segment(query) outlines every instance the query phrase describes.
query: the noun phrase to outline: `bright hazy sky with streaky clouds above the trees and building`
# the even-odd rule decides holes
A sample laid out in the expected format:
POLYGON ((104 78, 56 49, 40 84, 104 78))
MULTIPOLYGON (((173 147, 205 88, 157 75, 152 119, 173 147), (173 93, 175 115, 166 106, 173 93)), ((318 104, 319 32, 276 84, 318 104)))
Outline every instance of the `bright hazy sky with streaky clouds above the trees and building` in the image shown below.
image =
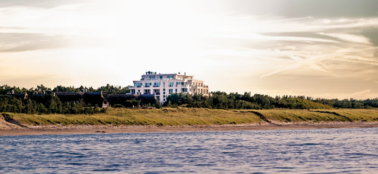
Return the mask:
POLYGON ((0 0, 0 86, 378 97, 378 0, 0 0))

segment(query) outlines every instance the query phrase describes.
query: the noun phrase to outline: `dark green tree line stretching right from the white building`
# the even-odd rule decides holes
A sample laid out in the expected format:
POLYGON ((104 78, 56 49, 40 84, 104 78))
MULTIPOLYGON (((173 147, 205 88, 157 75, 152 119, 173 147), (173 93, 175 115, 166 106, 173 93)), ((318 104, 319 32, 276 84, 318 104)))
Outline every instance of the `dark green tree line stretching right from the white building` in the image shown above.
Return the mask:
POLYGON ((167 97, 164 106, 177 107, 186 105, 186 107, 195 108, 213 108, 213 109, 332 109, 332 108, 353 108, 369 109, 378 108, 378 98, 366 100, 354 99, 313 99, 305 96, 276 96, 275 98, 268 95, 254 94, 245 92, 244 94, 217 91, 211 92, 211 97, 200 94, 173 93, 167 97))

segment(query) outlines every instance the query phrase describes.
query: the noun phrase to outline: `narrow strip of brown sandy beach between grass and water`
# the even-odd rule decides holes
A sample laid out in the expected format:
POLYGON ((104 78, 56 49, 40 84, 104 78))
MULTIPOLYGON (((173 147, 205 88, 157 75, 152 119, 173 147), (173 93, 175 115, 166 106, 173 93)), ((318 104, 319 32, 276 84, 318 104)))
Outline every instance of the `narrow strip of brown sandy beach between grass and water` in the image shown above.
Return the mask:
POLYGON ((180 126, 31 126, 27 128, 2 129, 1 135, 37 135, 37 134, 82 134, 82 133, 147 133, 147 132, 182 132, 182 131, 250 131, 250 130, 286 130, 286 129, 334 129, 334 128, 378 128, 378 122, 296 122, 268 123, 265 121, 243 124, 223 125, 180 125, 180 126))

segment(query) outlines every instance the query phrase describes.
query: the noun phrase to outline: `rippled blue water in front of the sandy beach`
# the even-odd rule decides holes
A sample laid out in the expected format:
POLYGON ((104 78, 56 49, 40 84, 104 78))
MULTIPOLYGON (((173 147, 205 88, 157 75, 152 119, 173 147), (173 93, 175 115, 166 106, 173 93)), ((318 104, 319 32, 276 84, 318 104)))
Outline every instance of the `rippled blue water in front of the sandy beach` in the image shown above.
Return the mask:
POLYGON ((0 136, 0 173, 377 173, 378 129, 0 136))

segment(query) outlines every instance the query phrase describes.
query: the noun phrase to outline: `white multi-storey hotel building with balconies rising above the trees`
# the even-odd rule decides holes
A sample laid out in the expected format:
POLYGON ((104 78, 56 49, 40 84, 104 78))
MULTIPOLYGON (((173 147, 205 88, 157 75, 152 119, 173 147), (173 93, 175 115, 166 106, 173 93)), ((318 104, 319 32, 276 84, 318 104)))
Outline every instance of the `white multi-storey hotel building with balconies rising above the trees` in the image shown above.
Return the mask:
POLYGON ((146 72, 141 80, 133 81, 134 86, 129 87, 131 94, 155 94, 160 103, 166 101, 172 93, 195 93, 209 96, 209 87, 202 80, 194 79, 194 75, 186 73, 157 74, 146 72))

